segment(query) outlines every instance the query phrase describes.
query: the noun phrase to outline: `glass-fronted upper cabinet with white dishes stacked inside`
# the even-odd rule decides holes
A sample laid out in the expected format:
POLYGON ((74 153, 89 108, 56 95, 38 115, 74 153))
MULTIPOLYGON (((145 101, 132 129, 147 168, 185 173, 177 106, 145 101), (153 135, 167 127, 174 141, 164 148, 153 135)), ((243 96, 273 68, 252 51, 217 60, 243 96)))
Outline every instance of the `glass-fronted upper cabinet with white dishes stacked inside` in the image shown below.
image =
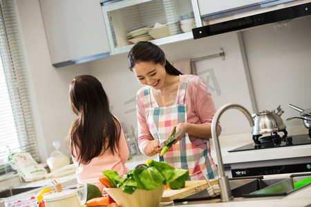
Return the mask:
POLYGON ((138 41, 157 45, 193 39, 202 26, 196 0, 102 1, 111 55, 127 52, 138 41))

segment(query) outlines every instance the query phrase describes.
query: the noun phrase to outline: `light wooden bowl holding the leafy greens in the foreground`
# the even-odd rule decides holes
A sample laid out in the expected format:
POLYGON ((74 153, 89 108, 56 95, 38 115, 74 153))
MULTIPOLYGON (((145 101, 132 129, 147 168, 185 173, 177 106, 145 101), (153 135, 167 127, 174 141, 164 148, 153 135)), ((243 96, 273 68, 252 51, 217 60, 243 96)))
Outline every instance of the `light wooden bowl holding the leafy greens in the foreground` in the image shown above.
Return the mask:
POLYGON ((131 195, 123 193, 120 188, 104 188, 104 190, 122 207, 156 207, 160 205, 164 188, 162 184, 155 190, 136 189, 131 195))

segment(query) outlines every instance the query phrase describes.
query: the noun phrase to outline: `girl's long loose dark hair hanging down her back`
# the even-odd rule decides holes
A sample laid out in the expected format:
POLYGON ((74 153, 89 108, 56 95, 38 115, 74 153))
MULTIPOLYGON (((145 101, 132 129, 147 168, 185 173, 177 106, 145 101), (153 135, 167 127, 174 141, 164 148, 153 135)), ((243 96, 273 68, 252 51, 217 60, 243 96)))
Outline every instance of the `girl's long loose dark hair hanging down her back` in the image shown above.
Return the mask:
POLYGON ((77 115, 67 137, 71 155, 76 155, 79 164, 88 164, 106 150, 114 154, 121 125, 109 110, 102 83, 91 75, 79 75, 70 83, 69 97, 77 115))

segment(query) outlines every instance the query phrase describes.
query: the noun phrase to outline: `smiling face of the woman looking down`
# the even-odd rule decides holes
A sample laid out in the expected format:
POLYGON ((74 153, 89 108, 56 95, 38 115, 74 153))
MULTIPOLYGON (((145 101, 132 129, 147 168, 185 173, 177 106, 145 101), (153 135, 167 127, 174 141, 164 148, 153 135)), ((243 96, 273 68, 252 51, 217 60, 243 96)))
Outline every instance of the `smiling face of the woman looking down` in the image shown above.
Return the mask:
POLYGON ((164 86, 167 75, 164 66, 160 63, 155 64, 153 61, 140 62, 133 67, 133 72, 143 85, 160 89, 164 86))

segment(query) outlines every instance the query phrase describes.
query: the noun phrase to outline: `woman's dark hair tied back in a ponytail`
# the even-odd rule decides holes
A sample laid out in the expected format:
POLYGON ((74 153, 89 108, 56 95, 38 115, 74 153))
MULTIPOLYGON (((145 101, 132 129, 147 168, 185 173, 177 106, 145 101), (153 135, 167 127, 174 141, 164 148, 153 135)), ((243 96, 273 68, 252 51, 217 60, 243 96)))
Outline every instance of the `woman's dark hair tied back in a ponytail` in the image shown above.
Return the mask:
POLYGON ((165 61, 165 70, 169 75, 182 75, 182 73, 174 68, 174 66, 167 61, 163 50, 149 41, 140 41, 131 48, 129 55, 127 56, 129 61, 129 69, 133 71, 133 67, 140 62, 153 61, 153 63, 161 65, 165 61))

